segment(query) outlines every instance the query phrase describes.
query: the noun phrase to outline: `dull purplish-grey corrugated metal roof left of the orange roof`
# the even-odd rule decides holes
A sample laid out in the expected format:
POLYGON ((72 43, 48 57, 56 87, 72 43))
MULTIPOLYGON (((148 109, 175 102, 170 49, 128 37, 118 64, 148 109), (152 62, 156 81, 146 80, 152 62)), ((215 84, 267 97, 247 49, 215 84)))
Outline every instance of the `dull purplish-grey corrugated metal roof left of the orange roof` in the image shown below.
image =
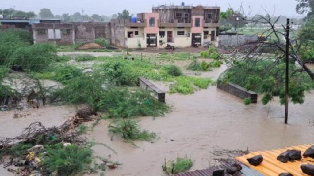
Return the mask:
MULTIPOLYGON (((242 166, 242 170, 239 174, 237 174, 237 176, 241 176, 241 175, 249 175, 249 176, 263 176, 263 174, 257 172, 254 169, 251 169, 245 165, 241 165, 242 166)), ((231 167, 231 164, 221 164, 219 166, 213 166, 207 169, 203 169, 203 170, 195 170, 192 172, 185 172, 185 173, 178 173, 175 176, 212 176, 213 172, 215 170, 219 170, 219 169, 226 169, 231 167)), ((226 173, 226 176, 231 176, 230 174, 226 173)))

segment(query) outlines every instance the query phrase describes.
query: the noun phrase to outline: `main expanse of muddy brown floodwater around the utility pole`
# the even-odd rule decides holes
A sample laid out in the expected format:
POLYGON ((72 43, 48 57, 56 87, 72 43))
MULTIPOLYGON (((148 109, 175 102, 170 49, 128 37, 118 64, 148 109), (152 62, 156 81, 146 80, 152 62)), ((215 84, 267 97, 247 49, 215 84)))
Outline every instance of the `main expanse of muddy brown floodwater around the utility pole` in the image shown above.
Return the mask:
MULTIPOLYGON (((210 77, 217 78, 224 68, 215 70, 210 77)), ((208 72, 210 74, 210 72, 208 72)), ((166 86, 159 85, 162 89, 166 86)), ((154 142, 123 142, 120 137, 108 134, 109 121, 102 122, 90 132, 89 138, 105 143, 116 153, 103 146, 95 146, 95 154, 110 156, 122 163, 107 176, 163 175, 164 159, 187 155, 195 162, 191 170, 203 169, 215 163, 210 152, 214 146, 225 149, 267 150, 297 144, 313 143, 314 94, 308 93, 303 105, 290 104, 289 125, 284 125, 284 106, 273 100, 263 106, 244 106, 233 95, 210 86, 192 95, 166 95, 172 111, 156 119, 141 117, 143 129, 156 132, 154 142)))

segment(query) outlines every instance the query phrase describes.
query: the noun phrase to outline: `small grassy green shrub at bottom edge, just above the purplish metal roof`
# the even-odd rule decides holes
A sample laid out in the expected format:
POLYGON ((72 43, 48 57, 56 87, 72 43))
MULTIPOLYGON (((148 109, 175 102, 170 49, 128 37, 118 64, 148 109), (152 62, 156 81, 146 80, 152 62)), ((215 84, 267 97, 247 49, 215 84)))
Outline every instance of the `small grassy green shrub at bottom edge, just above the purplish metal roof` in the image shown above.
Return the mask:
POLYGON ((185 172, 187 170, 189 170, 190 168, 192 168, 193 166, 193 161, 190 158, 176 158, 176 161, 168 161, 168 163, 165 163, 162 165, 162 169, 165 173, 167 173, 168 175, 170 174, 177 174, 177 173, 181 173, 181 172, 185 172))

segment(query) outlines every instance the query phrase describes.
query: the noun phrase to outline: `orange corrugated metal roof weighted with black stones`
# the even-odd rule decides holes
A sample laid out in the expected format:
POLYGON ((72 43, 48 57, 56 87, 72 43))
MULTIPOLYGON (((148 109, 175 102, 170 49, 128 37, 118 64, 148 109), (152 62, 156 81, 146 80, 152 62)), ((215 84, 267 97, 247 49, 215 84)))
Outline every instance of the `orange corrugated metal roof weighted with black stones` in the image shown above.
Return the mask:
MULTIPOLYGON (((313 144, 311 144, 313 145, 313 144)), ((269 150, 269 151, 258 151, 252 152, 245 156, 236 158, 241 163, 247 165, 250 168, 257 170, 260 173, 269 176, 278 176, 280 173, 291 173, 292 175, 304 175, 307 174, 302 173, 300 166, 302 164, 314 164, 314 159, 312 158, 302 158, 301 160, 294 162, 288 161, 287 163, 282 163, 277 160, 277 156, 280 153, 286 152, 287 150, 300 150, 303 154, 307 148, 311 147, 311 145, 299 145, 288 148, 279 148, 277 150, 269 150), (247 158, 254 157, 256 155, 262 155, 264 160, 259 166, 252 166, 246 160, 247 158)))

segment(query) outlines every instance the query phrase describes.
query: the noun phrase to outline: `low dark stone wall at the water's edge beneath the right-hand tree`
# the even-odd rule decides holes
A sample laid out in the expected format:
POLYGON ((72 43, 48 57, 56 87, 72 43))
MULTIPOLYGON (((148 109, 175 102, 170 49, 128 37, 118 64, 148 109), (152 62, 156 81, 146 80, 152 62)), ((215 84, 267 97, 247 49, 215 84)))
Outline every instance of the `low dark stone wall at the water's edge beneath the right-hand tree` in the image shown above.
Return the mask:
POLYGON ((224 84, 221 80, 218 80, 217 88, 229 92, 230 94, 242 99, 251 98, 252 103, 257 103, 257 93, 253 91, 247 91, 245 88, 239 85, 232 84, 230 82, 224 84))

